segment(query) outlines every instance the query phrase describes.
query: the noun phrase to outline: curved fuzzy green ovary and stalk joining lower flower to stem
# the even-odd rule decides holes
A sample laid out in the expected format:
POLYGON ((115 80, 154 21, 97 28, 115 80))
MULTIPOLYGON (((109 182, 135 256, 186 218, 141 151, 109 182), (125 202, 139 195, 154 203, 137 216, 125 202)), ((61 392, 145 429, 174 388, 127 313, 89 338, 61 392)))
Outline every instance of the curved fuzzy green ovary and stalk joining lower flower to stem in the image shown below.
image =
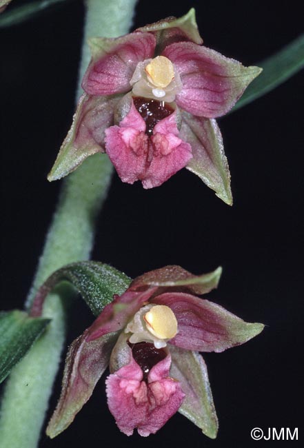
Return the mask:
POLYGON ((125 292, 131 278, 114 267, 98 261, 81 261, 61 267, 37 292, 31 309, 32 316, 40 316, 45 297, 60 281, 72 283, 92 313, 98 316, 103 307, 112 302, 114 294, 120 296, 125 292))

